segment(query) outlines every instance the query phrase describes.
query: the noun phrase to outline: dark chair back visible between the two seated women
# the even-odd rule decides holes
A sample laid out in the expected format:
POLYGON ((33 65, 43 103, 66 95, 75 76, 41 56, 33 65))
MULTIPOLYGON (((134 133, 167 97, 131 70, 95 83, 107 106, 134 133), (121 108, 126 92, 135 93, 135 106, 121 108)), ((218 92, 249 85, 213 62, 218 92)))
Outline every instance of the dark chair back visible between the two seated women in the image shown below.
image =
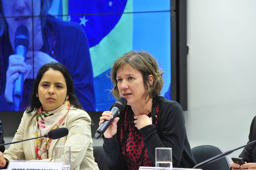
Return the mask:
POLYGON ((100 170, 108 170, 104 161, 103 146, 93 146, 93 156, 100 170))

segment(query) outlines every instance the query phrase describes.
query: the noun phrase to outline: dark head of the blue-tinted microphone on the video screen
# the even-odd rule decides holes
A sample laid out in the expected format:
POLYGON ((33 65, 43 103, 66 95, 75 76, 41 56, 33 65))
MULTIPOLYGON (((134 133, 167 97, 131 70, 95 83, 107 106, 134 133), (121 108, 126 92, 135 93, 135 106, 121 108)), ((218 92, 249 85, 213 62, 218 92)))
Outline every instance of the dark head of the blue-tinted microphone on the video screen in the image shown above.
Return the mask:
POLYGON ((28 48, 29 45, 29 33, 27 27, 20 25, 15 32, 14 47, 22 45, 28 48))

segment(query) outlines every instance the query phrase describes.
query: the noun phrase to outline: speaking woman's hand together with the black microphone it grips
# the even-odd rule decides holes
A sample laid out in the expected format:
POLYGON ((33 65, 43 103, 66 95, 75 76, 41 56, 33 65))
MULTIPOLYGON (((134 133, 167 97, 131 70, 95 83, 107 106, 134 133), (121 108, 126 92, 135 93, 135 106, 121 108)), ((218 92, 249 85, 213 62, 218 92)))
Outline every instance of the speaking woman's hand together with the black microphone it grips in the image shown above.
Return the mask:
POLYGON ((104 111, 100 117, 99 128, 96 130, 95 138, 98 139, 104 132, 104 137, 111 138, 117 132, 117 121, 121 111, 125 108, 127 100, 124 97, 120 97, 111 108, 110 111, 104 111), (111 114, 112 113, 112 114, 111 114))

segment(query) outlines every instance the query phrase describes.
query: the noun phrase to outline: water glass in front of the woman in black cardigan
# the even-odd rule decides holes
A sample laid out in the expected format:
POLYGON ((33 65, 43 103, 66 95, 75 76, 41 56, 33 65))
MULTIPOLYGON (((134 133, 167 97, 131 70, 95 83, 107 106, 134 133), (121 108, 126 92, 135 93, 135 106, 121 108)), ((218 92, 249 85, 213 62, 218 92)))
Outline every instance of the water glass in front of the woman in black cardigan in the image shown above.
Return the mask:
POLYGON ((172 168, 172 148, 156 148, 156 167, 172 168))

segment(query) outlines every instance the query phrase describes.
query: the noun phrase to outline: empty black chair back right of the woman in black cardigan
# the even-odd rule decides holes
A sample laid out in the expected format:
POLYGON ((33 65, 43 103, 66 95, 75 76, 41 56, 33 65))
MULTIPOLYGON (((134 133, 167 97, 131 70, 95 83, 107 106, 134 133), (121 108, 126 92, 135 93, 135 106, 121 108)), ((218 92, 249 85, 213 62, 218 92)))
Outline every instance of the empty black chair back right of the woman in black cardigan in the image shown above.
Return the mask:
MULTIPOLYGON (((202 145, 196 146, 191 149, 192 154, 196 160, 196 163, 199 164, 207 159, 210 159, 216 155, 223 153, 223 151, 212 145, 202 145)), ((210 163, 209 165, 203 166, 203 170, 230 170, 230 162, 227 156, 210 163)))

